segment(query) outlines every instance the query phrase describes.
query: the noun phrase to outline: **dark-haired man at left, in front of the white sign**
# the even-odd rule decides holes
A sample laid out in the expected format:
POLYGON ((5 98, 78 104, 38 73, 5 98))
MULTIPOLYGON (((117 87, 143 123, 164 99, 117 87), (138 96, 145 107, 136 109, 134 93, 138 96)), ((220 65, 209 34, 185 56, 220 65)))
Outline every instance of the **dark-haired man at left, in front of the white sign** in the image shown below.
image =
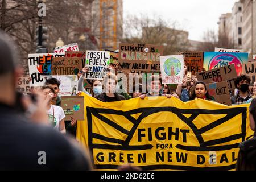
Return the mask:
POLYGON ((44 85, 50 86, 54 90, 54 97, 52 99, 52 104, 56 106, 61 106, 61 98, 58 96, 58 93, 60 92, 60 81, 56 78, 49 78, 46 80, 44 85))

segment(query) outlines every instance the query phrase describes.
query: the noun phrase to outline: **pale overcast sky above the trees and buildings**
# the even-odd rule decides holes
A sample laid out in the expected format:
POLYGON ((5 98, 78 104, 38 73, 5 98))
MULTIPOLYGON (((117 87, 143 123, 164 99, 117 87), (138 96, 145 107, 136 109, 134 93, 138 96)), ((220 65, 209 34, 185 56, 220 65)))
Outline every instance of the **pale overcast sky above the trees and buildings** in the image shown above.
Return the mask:
POLYGON ((189 39, 202 40, 208 29, 218 31, 218 18, 231 13, 238 0, 123 0, 123 18, 127 14, 158 14, 176 21, 189 32, 189 39))

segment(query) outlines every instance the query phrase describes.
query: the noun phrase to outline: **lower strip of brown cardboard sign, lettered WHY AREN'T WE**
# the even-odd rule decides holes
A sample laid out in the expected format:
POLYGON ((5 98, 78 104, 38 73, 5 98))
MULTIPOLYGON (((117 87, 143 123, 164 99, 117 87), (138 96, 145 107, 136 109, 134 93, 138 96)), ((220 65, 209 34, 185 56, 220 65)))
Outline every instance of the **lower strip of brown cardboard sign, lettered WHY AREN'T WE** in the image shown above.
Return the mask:
POLYGON ((146 72, 159 72, 160 62, 152 61, 152 64, 147 64, 147 61, 119 61, 122 71, 126 73, 146 73, 146 72))

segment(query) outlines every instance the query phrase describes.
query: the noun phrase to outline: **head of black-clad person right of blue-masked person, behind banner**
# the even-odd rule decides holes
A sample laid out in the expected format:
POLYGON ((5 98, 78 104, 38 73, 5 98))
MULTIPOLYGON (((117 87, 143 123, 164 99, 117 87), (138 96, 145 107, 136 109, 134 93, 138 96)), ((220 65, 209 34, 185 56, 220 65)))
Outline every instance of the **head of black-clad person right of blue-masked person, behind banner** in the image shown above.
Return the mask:
POLYGON ((117 76, 114 73, 107 73, 103 78, 104 92, 115 93, 115 86, 117 85, 117 76))

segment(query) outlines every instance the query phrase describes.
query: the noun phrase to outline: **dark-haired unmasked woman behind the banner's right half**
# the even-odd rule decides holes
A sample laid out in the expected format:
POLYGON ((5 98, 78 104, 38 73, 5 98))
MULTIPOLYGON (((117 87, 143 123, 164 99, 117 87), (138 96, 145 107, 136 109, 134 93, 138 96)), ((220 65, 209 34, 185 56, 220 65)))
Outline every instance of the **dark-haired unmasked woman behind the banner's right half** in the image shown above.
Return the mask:
POLYGON ((206 85, 203 81, 198 81, 195 84, 195 90, 192 93, 189 100, 195 100, 195 98, 201 98, 208 101, 214 101, 214 98, 207 92, 206 85))

